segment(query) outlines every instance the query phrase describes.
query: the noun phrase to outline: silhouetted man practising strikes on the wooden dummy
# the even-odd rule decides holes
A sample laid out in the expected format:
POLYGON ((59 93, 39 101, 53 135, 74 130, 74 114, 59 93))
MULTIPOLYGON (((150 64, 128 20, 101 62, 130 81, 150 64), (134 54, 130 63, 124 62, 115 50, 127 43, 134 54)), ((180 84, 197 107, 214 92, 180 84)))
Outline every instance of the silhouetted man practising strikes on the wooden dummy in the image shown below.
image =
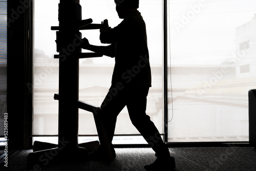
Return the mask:
MULTIPOLYGON (((144 139, 152 146, 157 160, 144 166, 146 170, 170 170, 175 168, 175 159, 155 124, 146 115, 146 97, 151 87, 151 68, 147 49, 147 36, 144 20, 137 10, 139 0, 115 0, 116 11, 122 22, 110 28, 108 20, 102 22, 100 41, 109 46, 93 46, 83 38, 82 48, 115 57, 115 68, 111 88, 103 100, 97 116, 104 122, 111 145, 113 158, 116 157, 112 139, 118 114, 126 105, 130 119, 144 139)), ((92 154, 95 159, 106 157, 100 146, 92 154)))

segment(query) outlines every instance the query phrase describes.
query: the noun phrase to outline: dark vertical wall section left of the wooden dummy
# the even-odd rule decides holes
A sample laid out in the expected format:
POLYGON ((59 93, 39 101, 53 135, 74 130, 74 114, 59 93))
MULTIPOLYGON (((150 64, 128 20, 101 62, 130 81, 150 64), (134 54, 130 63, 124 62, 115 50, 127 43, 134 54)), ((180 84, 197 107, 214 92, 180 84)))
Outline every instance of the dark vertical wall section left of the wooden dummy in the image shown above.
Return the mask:
POLYGON ((8 148, 31 147, 33 7, 31 0, 8 1, 8 148))

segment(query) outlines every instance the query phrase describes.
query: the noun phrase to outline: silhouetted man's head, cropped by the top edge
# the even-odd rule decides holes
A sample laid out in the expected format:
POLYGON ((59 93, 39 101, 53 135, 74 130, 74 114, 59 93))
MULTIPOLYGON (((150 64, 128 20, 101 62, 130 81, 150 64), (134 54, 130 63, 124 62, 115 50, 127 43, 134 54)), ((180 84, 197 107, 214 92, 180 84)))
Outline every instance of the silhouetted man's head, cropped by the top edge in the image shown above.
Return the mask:
POLYGON ((124 18, 139 8, 139 0, 115 0, 119 18, 124 18))

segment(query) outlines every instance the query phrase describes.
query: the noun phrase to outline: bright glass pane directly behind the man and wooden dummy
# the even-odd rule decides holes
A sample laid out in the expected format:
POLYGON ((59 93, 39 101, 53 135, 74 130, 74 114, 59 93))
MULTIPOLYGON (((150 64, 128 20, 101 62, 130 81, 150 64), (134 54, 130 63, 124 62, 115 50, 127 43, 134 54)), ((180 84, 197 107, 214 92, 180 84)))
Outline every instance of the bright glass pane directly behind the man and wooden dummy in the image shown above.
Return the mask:
MULTIPOLYGON (((58 134, 58 101, 53 99, 58 93, 58 60, 56 53, 56 31, 51 26, 58 26, 59 1, 35 1, 34 19, 34 122, 33 135, 58 134), (47 10, 47 13, 45 12, 47 10)), ((100 24, 108 19, 109 25, 117 26, 121 19, 115 11, 113 0, 80 1, 82 18, 92 18, 93 23, 100 24)), ((162 102, 162 0, 140 1, 141 12, 147 27, 148 49, 152 67, 153 83, 148 95, 147 114, 151 116, 163 133, 162 102)), ((82 30, 91 44, 102 45, 99 30, 82 30)), ((104 45, 103 45, 104 46, 104 45)), ((83 50, 83 52, 87 52, 83 50)), ((79 100, 99 106, 111 86, 114 59, 100 58, 80 59, 79 100)), ((116 125, 116 134, 139 134, 132 125, 126 108, 120 113, 116 125)), ((79 110, 79 135, 96 135, 96 127, 91 113, 79 110)), ((130 142, 129 142, 130 143, 130 142)))

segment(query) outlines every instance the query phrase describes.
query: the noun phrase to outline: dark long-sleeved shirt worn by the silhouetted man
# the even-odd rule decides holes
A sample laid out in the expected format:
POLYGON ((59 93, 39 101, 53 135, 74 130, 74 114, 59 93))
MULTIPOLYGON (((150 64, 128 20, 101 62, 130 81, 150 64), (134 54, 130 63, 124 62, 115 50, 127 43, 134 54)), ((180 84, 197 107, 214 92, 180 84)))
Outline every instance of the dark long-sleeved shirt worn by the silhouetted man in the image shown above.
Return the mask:
POLYGON ((146 26, 139 11, 126 16, 115 28, 101 32, 100 41, 111 44, 105 55, 115 57, 112 87, 117 83, 151 87, 146 26))

